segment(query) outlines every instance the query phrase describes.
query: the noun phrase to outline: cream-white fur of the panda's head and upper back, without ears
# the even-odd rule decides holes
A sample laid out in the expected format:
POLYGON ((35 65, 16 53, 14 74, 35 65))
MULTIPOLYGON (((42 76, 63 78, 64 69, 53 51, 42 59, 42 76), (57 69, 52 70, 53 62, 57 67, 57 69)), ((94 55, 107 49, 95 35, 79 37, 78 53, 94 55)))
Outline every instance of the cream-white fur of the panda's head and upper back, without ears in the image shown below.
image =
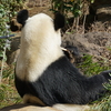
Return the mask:
POLYGON ((39 13, 29 18, 21 32, 17 75, 30 82, 38 80, 48 65, 63 56, 60 44, 60 30, 54 30, 49 16, 39 13))

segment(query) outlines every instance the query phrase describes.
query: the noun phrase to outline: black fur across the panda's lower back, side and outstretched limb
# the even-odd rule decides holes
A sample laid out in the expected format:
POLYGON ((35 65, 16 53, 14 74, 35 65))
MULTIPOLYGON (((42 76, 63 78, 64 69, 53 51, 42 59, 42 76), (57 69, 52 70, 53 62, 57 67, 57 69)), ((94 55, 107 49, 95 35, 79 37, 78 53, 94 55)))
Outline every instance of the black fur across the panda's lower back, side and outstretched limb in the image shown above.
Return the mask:
POLYGON ((20 95, 31 93, 48 105, 56 103, 85 104, 99 99, 99 93, 104 92, 102 83, 111 79, 108 75, 110 72, 105 72, 105 77, 102 72, 102 74, 87 78, 65 57, 62 57, 50 64, 37 81, 21 82, 17 78, 16 84, 18 84, 20 95))

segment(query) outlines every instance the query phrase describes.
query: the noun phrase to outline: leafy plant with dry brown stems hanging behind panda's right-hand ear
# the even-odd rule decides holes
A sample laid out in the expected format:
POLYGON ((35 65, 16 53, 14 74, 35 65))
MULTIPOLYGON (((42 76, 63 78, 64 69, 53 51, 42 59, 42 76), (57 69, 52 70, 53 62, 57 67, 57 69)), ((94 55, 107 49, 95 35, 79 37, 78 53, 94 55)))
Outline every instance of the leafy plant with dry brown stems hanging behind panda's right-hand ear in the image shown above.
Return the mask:
MULTIPOLYGON (((72 30, 75 28, 75 32, 78 32, 78 26, 80 19, 82 19, 82 30, 84 32, 84 23, 87 14, 89 13, 89 6, 93 3, 94 0, 51 0, 51 10, 53 12, 60 11, 67 17, 67 19, 73 18, 72 30)), ((67 21, 67 23, 69 24, 69 21, 67 21)))

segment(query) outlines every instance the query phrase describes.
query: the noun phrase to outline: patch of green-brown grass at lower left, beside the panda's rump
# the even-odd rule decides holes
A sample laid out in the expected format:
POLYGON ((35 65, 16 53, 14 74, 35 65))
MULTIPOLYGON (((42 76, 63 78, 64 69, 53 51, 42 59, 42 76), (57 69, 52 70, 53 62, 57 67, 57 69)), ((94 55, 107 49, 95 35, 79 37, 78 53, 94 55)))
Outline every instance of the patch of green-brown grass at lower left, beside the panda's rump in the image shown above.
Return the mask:
POLYGON ((0 84, 0 108, 21 102, 21 98, 14 88, 13 78, 13 68, 7 67, 3 70, 2 82, 0 84))

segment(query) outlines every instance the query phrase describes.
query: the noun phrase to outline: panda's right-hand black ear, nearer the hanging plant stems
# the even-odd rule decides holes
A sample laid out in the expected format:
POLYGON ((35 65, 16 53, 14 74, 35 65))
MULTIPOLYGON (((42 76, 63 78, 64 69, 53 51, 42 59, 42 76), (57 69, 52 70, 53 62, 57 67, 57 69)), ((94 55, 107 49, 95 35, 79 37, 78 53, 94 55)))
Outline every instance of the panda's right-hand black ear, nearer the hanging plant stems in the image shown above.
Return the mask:
POLYGON ((63 28, 64 27, 64 24, 65 24, 65 19, 64 19, 64 16, 63 14, 61 14, 61 13, 59 13, 59 12, 57 12, 56 14, 54 14, 54 29, 56 29, 56 31, 58 30, 58 29, 60 29, 60 28, 63 28))

